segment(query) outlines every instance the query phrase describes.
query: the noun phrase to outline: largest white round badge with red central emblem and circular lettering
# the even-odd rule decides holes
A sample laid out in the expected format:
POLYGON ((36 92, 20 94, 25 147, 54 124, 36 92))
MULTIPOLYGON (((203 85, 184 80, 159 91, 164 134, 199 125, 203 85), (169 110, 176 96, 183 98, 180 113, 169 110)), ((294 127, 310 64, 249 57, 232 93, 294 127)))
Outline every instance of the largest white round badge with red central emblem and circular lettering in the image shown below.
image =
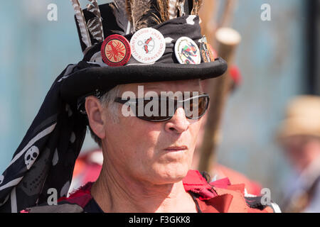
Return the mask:
POLYGON ((154 28, 142 28, 134 33, 130 45, 134 59, 145 64, 156 62, 166 50, 164 35, 154 28))

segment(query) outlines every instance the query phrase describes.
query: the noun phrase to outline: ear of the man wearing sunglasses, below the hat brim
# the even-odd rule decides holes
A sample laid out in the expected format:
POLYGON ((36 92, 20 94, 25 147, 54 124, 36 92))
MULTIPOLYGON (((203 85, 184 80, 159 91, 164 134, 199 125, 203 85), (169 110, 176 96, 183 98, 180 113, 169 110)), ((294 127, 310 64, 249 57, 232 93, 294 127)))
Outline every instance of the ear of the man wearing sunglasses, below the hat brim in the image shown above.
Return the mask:
POLYGON ((92 131, 100 139, 105 138, 105 121, 103 119, 103 108, 95 96, 87 96, 85 99, 85 111, 92 131))

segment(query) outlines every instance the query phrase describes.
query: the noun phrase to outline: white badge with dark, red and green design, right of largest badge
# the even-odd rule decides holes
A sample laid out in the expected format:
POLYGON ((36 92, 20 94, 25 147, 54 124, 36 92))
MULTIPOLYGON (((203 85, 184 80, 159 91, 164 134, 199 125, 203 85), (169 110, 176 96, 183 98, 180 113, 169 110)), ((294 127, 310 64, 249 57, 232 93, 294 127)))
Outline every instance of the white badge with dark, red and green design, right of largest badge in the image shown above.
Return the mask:
POLYGON ((198 45, 191 38, 178 38, 174 45, 174 52, 180 64, 200 64, 201 62, 198 45))

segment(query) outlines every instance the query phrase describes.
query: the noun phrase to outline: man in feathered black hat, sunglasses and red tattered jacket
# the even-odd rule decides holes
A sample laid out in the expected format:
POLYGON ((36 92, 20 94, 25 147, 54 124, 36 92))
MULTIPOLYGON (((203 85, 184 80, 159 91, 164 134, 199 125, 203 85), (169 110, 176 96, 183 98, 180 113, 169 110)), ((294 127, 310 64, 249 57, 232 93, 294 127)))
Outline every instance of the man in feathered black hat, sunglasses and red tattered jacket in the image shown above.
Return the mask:
POLYGON ((184 64, 181 47, 201 42, 201 1, 162 4, 92 1, 83 16, 73 0, 85 56, 55 80, 2 175, 1 211, 272 211, 241 185, 189 170, 209 101, 200 79, 227 66, 201 62, 198 50, 197 64, 184 64), (102 172, 67 198, 86 126, 102 147, 102 172))

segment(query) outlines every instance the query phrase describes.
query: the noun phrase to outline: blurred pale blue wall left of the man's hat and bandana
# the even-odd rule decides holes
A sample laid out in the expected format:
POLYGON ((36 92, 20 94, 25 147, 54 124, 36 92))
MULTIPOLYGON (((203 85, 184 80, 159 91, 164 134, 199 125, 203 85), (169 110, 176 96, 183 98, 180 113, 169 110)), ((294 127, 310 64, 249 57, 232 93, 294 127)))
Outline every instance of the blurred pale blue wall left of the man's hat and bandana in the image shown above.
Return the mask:
POLYGON ((73 15, 70 1, 1 2, 1 172, 9 164, 55 77, 68 64, 81 60, 73 15), (58 6, 58 21, 47 19, 50 3, 58 6))

